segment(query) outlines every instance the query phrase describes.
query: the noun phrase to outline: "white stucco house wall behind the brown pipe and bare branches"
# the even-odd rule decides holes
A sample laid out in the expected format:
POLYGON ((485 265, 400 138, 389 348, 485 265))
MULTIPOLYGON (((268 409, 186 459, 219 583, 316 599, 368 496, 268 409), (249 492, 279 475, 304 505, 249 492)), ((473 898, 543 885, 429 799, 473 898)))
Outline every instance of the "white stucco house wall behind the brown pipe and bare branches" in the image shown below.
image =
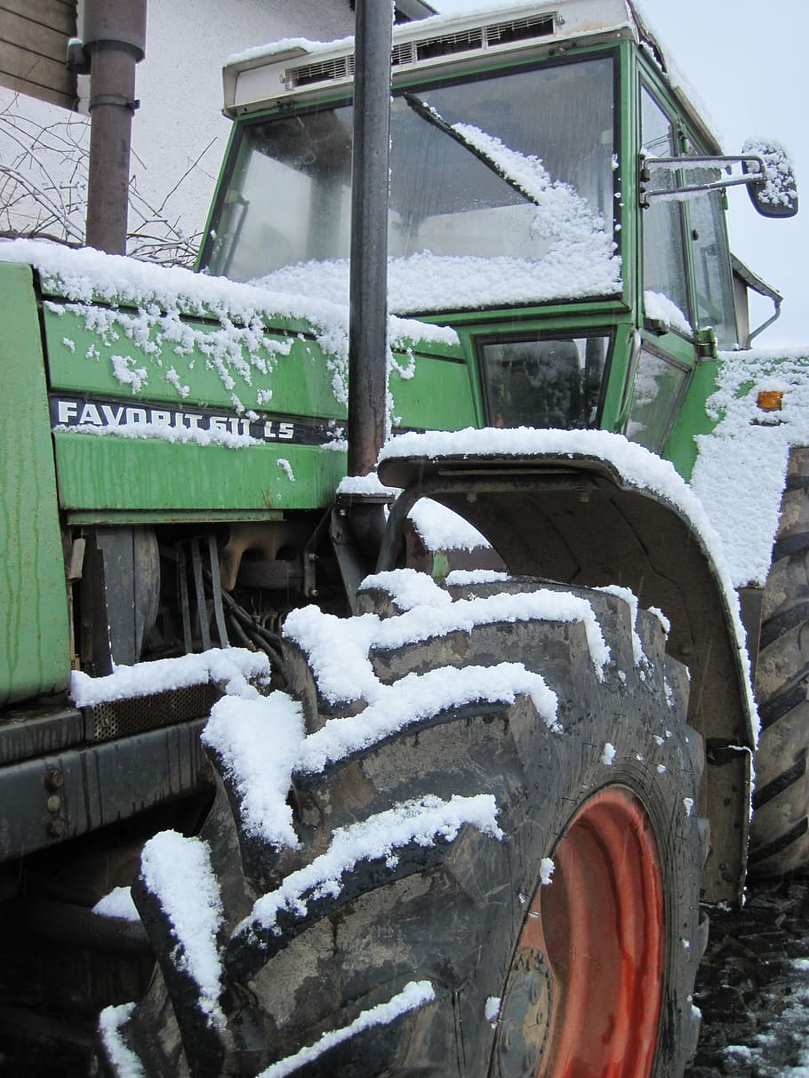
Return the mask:
MULTIPOLYGON (((149 0, 146 58, 137 68, 140 108, 133 124, 132 175, 137 192, 157 208, 179 183, 163 216, 178 222, 186 235, 198 232, 205 224, 230 133, 230 122, 221 114, 223 61, 233 53, 286 37, 329 41, 353 29, 348 0, 149 0), (203 151, 201 163, 186 176, 203 151)), ((80 83, 86 98, 88 80, 80 83)), ((81 201, 74 160, 65 155, 65 148, 81 142, 87 121, 33 98, 20 96, 14 101, 14 97, 0 87, 0 163, 16 163, 20 152, 17 136, 23 140, 36 136, 36 127, 27 126, 29 121, 50 127, 52 135, 46 141, 54 149, 38 144, 37 164, 23 163, 22 170, 28 168, 35 182, 47 186, 55 202, 81 201), (14 119, 3 123, 10 109, 14 119), (69 125, 67 138, 65 125, 69 125), (43 168, 47 171, 44 179, 43 168)), ((80 154, 78 150, 72 156, 80 154)), ((11 190, 2 181, 0 175, 0 199, 11 190)), ((134 218, 131 212, 131 230, 134 218)), ((83 207, 73 209, 71 223, 70 238, 80 239, 83 207)), ((0 221, 0 227, 5 226, 6 221, 0 221)), ((26 227, 27 222, 20 217, 14 226, 26 227)), ((53 223, 46 231, 59 232, 53 223)))

